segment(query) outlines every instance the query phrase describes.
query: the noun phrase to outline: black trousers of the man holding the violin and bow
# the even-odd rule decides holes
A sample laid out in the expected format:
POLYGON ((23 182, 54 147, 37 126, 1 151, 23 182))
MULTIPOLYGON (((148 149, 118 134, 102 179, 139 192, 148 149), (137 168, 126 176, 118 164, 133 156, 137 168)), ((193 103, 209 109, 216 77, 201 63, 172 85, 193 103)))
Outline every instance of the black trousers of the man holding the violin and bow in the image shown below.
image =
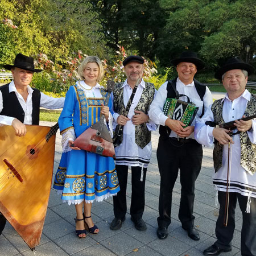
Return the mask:
POLYGON ((242 256, 256 255, 256 198, 251 197, 250 213, 246 213, 247 196, 240 193, 229 193, 228 225, 224 226, 226 192, 218 191, 218 202, 220 203, 219 216, 216 222, 215 244, 221 249, 229 249, 235 229, 235 209, 237 200, 242 211, 243 223, 241 230, 241 254, 242 256))

